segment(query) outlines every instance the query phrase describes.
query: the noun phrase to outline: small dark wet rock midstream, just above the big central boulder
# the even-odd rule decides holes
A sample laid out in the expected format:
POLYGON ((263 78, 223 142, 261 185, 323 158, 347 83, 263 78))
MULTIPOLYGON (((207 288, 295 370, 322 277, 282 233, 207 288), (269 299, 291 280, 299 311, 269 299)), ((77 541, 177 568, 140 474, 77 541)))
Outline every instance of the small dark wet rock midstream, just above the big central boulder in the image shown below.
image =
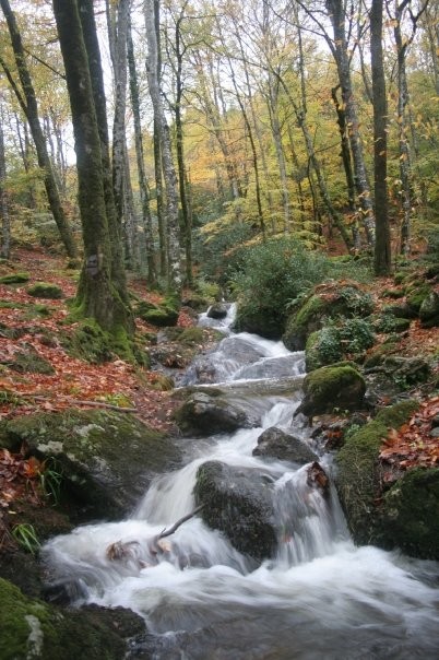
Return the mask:
POLYGON ((253 449, 253 456, 278 458, 304 465, 318 460, 317 455, 294 435, 285 433, 276 426, 264 431, 258 438, 258 447, 253 449))

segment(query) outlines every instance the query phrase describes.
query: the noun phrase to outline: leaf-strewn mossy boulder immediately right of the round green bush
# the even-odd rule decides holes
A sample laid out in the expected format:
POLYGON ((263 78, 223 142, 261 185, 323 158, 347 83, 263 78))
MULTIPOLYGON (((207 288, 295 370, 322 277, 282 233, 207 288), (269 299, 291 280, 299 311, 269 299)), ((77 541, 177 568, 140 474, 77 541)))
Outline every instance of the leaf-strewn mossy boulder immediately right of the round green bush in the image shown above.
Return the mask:
POLYGON ((370 315, 372 309, 371 296, 355 283, 348 286, 320 285, 301 307, 289 316, 283 334, 284 344, 289 351, 301 351, 307 338, 311 332, 323 328, 327 319, 365 317, 370 315))

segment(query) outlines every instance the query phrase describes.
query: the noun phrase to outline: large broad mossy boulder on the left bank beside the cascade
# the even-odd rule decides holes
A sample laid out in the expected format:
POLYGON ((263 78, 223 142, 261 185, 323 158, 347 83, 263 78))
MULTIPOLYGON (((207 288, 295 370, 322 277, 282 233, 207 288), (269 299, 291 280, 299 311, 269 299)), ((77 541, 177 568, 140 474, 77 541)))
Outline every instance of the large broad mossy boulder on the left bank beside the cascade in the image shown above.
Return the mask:
POLYGON ((52 459, 62 475, 60 498, 78 520, 119 518, 153 476, 180 464, 176 444, 129 413, 67 410, 3 422, 0 444, 52 459))

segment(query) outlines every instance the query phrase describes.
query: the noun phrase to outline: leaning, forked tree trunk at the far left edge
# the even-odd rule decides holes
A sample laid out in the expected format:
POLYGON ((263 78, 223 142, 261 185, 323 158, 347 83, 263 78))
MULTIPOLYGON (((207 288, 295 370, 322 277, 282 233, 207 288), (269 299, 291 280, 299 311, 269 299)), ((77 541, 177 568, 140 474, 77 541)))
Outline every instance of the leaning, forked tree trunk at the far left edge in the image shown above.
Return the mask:
POLYGON ((0 5, 3 10, 3 14, 8 23, 8 30, 11 37, 12 49, 14 51, 14 58, 19 71, 23 95, 20 92, 17 85, 14 83, 9 69, 4 67, 3 62, 2 66, 10 84, 12 85, 14 93, 17 96, 22 110, 28 121, 32 137, 35 143, 35 149, 37 152, 38 165, 44 174, 44 184, 46 188, 47 199, 49 201, 54 220, 60 233, 61 240, 63 243, 68 256, 74 258, 76 257, 76 246, 68 220, 66 217, 64 210, 61 204, 57 182, 54 175, 54 169, 50 163, 49 154, 47 152, 46 140, 38 117, 38 105, 36 101, 35 90, 32 84, 31 74, 26 64, 22 37, 15 21, 15 15, 11 10, 9 0, 0 0, 0 5))

